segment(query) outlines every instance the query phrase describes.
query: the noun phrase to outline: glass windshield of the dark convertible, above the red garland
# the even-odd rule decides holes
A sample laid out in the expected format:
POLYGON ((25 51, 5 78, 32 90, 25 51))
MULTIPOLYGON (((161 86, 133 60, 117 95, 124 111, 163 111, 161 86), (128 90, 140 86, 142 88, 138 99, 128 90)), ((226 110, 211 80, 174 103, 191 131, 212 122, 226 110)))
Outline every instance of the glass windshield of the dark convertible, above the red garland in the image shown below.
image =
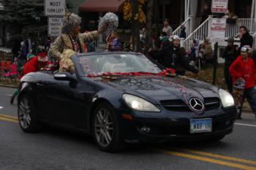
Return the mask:
POLYGON ((85 75, 103 73, 147 72, 157 74, 162 70, 142 54, 95 54, 79 58, 85 75))

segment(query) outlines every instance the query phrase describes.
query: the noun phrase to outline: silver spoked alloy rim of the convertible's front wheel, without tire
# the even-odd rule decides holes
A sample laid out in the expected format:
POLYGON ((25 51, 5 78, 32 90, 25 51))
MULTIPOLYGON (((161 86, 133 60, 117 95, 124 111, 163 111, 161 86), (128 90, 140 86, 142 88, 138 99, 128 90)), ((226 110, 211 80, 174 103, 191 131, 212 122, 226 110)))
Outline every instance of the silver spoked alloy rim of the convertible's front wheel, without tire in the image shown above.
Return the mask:
POLYGON ((113 119, 108 109, 99 109, 94 120, 94 134, 102 147, 107 147, 113 139, 113 119))

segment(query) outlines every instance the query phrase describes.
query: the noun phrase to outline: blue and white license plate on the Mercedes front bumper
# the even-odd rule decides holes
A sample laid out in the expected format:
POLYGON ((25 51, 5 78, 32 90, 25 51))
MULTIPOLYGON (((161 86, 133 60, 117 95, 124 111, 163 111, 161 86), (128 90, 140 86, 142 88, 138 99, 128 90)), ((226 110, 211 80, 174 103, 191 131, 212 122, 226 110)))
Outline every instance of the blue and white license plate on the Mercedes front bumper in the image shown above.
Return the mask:
POLYGON ((211 119, 192 119, 190 120, 190 133, 203 133, 211 132, 212 123, 211 119))

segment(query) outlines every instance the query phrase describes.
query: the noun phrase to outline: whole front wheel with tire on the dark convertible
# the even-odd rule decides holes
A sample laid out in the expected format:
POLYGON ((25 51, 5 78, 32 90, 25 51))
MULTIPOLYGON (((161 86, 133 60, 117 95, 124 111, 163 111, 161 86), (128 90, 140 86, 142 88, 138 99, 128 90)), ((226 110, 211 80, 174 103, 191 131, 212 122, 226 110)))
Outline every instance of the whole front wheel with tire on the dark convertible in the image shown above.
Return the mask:
POLYGON ((93 115, 94 142, 103 152, 117 152, 124 148, 116 113, 108 103, 99 104, 93 115))

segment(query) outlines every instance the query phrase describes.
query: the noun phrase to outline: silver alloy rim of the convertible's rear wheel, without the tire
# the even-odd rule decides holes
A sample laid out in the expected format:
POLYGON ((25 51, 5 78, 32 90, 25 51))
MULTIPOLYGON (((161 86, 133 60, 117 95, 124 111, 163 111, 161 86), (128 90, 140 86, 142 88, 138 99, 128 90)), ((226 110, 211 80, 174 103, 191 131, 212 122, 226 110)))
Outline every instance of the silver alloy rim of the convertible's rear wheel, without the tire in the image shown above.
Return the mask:
POLYGON ((22 128, 29 128, 31 124, 31 104, 28 98, 23 98, 20 101, 19 120, 22 128))

